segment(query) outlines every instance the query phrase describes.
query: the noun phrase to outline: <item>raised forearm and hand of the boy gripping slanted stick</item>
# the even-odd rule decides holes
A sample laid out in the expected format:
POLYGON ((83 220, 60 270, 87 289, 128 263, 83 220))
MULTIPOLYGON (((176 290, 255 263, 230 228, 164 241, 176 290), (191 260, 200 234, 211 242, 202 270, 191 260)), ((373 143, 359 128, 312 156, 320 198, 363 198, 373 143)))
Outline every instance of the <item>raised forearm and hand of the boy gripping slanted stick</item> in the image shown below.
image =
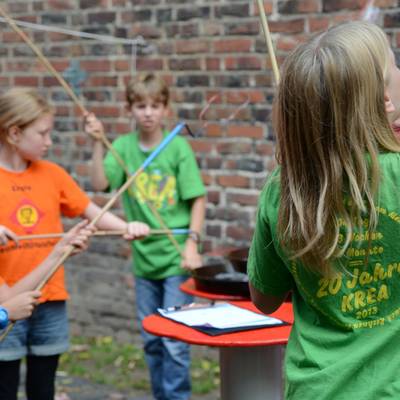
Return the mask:
POLYGON ((104 173, 104 147, 101 137, 104 136, 103 124, 93 113, 85 115, 85 132, 93 137, 93 155, 90 167, 90 181, 94 190, 105 190, 109 186, 104 173))

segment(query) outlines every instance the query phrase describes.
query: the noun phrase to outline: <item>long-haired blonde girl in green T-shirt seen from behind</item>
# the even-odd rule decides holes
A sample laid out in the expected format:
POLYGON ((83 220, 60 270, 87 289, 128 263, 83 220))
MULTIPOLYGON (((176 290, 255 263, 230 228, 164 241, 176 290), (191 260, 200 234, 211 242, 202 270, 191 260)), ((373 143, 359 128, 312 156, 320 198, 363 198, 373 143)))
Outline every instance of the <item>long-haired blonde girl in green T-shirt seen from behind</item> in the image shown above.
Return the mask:
POLYGON ((287 399, 399 397, 399 111, 377 26, 338 25, 285 60, 248 273, 265 313, 293 294, 287 399))

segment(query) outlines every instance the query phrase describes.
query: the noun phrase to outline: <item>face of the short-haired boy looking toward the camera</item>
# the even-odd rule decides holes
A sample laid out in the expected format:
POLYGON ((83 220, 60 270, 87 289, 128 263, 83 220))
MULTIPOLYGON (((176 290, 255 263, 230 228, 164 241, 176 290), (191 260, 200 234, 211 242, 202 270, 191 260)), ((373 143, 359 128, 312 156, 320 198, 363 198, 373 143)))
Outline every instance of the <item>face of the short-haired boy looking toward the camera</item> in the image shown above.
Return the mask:
POLYGON ((130 110, 141 133, 161 133, 163 119, 167 115, 167 107, 163 102, 145 97, 135 101, 130 110))

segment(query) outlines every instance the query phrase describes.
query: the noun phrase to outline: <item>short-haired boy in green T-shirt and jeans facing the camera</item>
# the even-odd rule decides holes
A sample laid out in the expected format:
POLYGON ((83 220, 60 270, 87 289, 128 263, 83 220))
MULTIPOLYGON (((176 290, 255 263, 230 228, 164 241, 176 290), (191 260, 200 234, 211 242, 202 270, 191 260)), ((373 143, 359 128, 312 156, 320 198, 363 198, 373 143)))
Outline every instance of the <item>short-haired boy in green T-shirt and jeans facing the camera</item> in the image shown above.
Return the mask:
MULTIPOLYGON (((162 141, 163 119, 168 112, 169 90, 165 82, 152 73, 138 76, 127 86, 127 107, 137 124, 137 132, 119 137, 113 147, 134 173, 162 141)), ((104 134, 102 124, 93 114, 86 117, 86 131, 104 134)), ((96 190, 118 189, 126 174, 115 157, 108 153, 103 161, 100 140, 94 143, 91 171, 96 190)), ((146 202, 157 210, 168 228, 190 228, 189 236, 176 236, 182 252, 167 236, 149 236, 132 242, 133 271, 136 277, 138 318, 166 308, 191 302, 179 286, 187 279, 185 269, 201 265, 197 245, 205 214, 205 189, 196 159, 187 141, 180 136, 160 153, 152 164, 122 196, 128 220, 159 227, 146 202)), ((161 339, 141 328, 149 365, 153 395, 157 400, 190 398, 189 346, 161 339)))

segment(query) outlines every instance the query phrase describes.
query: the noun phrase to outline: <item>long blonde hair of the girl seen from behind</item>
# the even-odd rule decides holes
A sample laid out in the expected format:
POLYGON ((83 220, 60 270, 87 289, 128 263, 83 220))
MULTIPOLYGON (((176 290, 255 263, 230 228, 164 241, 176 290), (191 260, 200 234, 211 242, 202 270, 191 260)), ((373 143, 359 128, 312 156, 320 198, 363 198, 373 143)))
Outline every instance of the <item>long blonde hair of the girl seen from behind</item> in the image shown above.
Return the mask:
POLYGON ((278 230, 291 257, 323 275, 343 256, 363 215, 367 229, 375 229, 378 155, 400 151, 385 111, 389 62, 384 32, 349 22, 300 45, 283 65, 274 105, 278 230))

